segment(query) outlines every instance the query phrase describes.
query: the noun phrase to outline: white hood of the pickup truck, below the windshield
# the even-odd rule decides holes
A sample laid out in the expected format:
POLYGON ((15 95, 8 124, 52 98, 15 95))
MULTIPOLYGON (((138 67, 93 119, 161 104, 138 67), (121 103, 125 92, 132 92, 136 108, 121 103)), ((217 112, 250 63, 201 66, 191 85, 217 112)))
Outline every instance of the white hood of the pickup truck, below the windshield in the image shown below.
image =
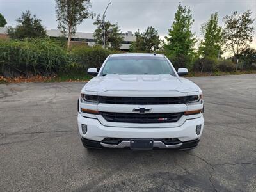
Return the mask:
POLYGON ((106 91, 178 91, 199 92, 200 88, 182 77, 171 75, 117 75, 97 76, 83 88, 89 92, 106 91))

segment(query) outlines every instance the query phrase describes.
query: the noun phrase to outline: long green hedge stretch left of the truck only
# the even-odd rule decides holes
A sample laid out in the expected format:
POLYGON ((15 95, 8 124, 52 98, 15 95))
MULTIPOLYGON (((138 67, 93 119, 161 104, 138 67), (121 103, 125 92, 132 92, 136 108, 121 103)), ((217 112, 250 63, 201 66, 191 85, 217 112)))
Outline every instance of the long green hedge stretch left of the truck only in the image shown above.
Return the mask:
POLYGON ((69 73, 100 68, 113 52, 102 47, 74 47, 70 51, 58 40, 1 40, 1 74, 15 77, 35 74, 69 73))

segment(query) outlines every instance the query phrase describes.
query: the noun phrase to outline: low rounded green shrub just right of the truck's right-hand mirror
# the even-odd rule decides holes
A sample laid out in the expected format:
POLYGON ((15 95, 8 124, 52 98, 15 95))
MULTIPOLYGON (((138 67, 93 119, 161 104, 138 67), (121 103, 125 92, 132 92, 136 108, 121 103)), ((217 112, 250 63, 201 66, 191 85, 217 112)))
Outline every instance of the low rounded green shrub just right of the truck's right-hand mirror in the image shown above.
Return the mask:
POLYGON ((217 69, 217 60, 214 58, 199 58, 195 61, 195 72, 214 72, 217 69))

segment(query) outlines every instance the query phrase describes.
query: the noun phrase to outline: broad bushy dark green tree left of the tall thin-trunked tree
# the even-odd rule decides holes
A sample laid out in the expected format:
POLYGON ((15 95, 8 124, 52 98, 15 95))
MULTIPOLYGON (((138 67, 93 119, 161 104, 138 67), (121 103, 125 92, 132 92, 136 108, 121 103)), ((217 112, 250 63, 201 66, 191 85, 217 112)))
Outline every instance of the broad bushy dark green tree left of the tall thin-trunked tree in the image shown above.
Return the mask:
POLYGON ((36 18, 36 15, 32 17, 28 10, 22 12, 17 22, 19 24, 15 28, 8 28, 10 38, 45 38, 47 36, 41 19, 36 18))

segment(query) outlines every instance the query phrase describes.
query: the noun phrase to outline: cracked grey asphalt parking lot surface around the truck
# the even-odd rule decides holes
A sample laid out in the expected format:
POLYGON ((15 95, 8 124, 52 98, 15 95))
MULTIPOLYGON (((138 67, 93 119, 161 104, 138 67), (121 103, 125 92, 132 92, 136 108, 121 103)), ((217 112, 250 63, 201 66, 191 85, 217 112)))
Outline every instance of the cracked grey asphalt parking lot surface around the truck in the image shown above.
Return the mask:
POLYGON ((191 151, 88 152, 84 83, 0 84, 0 191, 256 191, 256 74, 189 79, 205 100, 191 151))

